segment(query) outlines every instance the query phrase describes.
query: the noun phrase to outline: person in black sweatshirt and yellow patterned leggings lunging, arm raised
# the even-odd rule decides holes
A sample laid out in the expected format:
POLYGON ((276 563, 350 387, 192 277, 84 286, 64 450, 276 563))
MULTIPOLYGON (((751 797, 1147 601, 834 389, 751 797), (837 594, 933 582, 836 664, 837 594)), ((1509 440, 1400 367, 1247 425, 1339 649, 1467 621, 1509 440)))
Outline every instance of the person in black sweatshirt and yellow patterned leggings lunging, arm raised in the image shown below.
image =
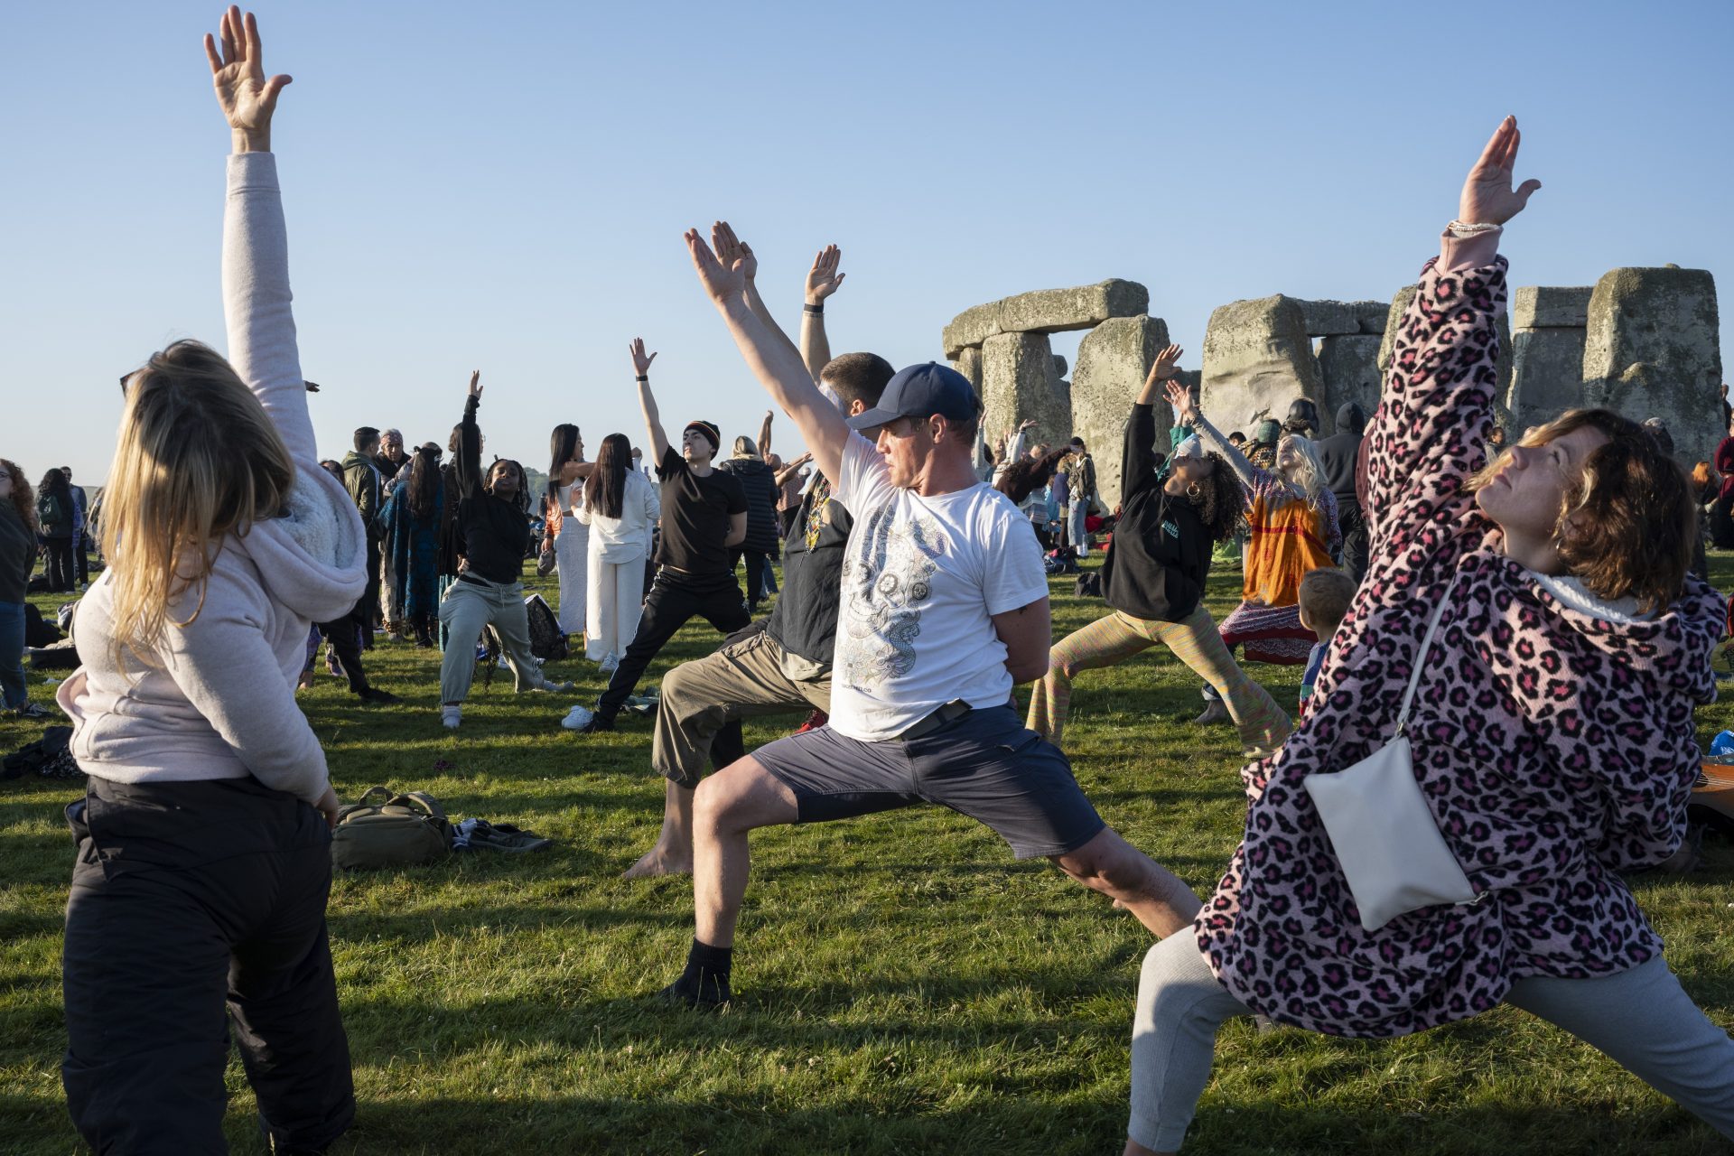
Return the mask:
POLYGON ((1113 614, 1054 643, 1047 674, 1030 698, 1028 728, 1054 745, 1065 731, 1073 676, 1115 666, 1157 643, 1222 695, 1248 750, 1269 754, 1288 737, 1288 716, 1235 664, 1202 603, 1210 553, 1240 525, 1240 480, 1219 454, 1203 454, 1196 438, 1181 444, 1158 471, 1151 402, 1157 383, 1174 380, 1179 357, 1177 345, 1157 355, 1125 432, 1125 496, 1101 568, 1103 596, 1113 614))

